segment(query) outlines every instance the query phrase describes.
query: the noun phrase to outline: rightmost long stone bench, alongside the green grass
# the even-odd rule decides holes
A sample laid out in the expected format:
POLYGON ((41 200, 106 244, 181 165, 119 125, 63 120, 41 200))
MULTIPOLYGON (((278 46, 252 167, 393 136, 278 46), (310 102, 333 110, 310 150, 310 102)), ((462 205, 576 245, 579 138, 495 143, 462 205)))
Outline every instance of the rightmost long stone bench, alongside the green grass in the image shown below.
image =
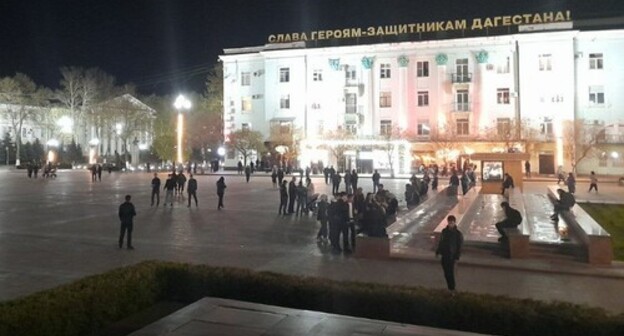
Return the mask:
MULTIPOLYGON (((553 203, 559 200, 557 186, 548 187, 548 197, 553 203)), ((583 208, 575 204, 569 211, 561 212, 561 218, 578 234, 587 248, 587 262, 593 265, 610 265, 613 260, 611 235, 583 208)))

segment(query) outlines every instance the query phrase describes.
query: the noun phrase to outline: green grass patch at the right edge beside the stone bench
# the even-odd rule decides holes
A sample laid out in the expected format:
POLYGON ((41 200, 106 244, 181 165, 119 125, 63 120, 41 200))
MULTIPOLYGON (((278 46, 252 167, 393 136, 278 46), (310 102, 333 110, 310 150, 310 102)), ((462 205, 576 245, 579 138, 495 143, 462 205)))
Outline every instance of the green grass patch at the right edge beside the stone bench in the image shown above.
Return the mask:
POLYGON ((609 234, 613 241, 613 255, 624 261, 624 205, 623 204, 579 204, 609 234))

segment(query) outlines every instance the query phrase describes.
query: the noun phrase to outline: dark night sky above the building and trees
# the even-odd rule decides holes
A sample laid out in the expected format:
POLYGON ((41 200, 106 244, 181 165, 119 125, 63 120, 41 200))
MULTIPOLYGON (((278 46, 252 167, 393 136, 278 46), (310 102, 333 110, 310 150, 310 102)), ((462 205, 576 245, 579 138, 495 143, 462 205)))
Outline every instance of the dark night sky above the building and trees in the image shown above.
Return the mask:
MULTIPOLYGON (((2 0, 0 76, 56 88, 61 66, 99 67, 144 94, 203 91, 224 48, 273 33, 572 11, 624 15, 624 0, 2 0)), ((470 21, 469 21, 470 22, 470 21)))

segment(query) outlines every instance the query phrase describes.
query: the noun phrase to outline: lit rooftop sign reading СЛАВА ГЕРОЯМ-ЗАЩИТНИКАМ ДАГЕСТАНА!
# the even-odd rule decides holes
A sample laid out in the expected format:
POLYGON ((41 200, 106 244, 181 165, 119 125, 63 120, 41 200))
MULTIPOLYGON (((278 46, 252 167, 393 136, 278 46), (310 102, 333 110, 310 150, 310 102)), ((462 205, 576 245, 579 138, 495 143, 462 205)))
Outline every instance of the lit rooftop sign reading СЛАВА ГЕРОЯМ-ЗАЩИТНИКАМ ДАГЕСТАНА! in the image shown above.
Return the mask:
POLYGON ((271 34, 269 43, 288 43, 298 41, 320 41, 331 39, 348 39, 360 37, 398 36, 431 32, 443 32, 453 30, 481 30, 496 27, 509 27, 519 25, 535 25, 543 23, 572 21, 570 11, 544 12, 533 14, 517 14, 472 19, 468 26, 467 19, 446 20, 396 24, 367 28, 344 28, 315 30, 309 32, 296 32, 285 34, 271 34))

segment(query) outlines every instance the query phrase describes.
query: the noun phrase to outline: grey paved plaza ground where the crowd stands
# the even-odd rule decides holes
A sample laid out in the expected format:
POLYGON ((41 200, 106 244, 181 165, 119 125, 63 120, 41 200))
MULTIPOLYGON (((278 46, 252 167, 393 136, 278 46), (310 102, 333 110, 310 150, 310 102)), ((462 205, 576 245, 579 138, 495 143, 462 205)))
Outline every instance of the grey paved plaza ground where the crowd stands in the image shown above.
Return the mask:
MULTIPOLYGON (((160 174, 164 180, 164 174, 160 174)), ((0 300, 52 288, 87 275, 143 260, 168 260, 234 266, 258 271, 445 288, 438 261, 426 249, 415 258, 358 259, 333 255, 316 243, 312 217, 277 215, 278 192, 267 176, 227 174, 225 209, 217 210, 218 175, 198 176, 199 208, 176 202, 173 208, 149 206, 147 173, 104 173, 92 183, 87 171, 61 171, 55 180, 29 180, 25 172, 0 170, 0 300), (132 194, 137 207, 134 246, 117 248, 117 207, 132 194), (426 251, 426 252, 425 252, 426 251)), ((330 190, 313 179, 317 192, 330 190)), ((361 177, 365 192, 369 177, 361 177)), ((164 182, 164 181, 163 181, 164 182)), ((382 179, 402 199, 405 179, 382 179)), ((552 182, 530 182, 525 192, 545 193, 552 182)), ((623 199, 624 188, 601 184, 591 201, 623 199)), ((525 196, 528 196, 525 195, 525 196)), ((161 196, 164 196, 162 194, 161 196)), ((161 199, 162 200, 162 199, 161 199)), ((404 203, 402 204, 404 206, 404 203)), ((518 298, 562 300, 624 312, 624 267, 597 268, 579 262, 509 260, 496 256, 462 257, 458 289, 518 298)))

